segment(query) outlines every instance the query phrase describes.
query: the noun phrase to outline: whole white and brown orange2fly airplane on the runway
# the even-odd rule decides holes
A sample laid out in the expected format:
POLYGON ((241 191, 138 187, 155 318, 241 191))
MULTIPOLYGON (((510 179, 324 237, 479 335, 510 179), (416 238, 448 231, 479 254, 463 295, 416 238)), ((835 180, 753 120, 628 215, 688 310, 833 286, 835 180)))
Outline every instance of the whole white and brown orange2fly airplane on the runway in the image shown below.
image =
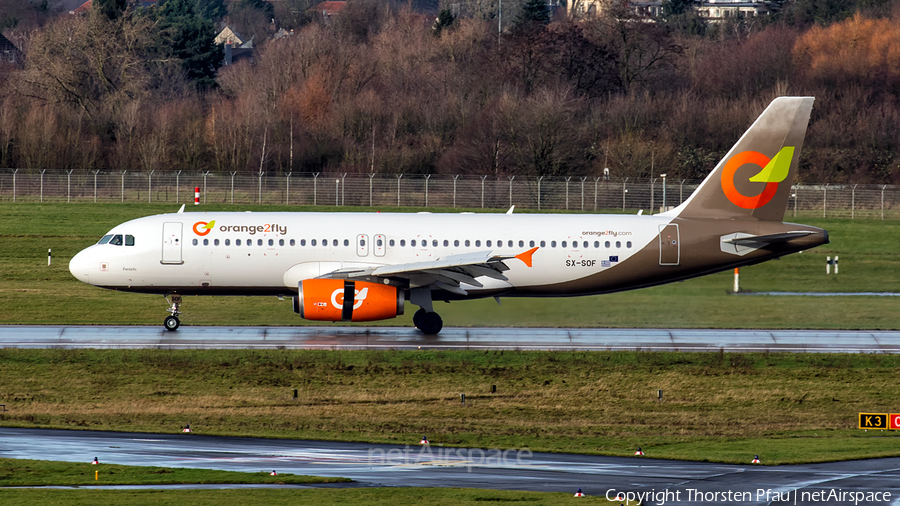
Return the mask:
POLYGON ((814 99, 772 101, 681 205, 655 215, 184 212, 117 225, 69 270, 110 290, 293 299, 316 321, 365 322, 434 301, 631 290, 757 264, 828 242, 782 223, 814 99))

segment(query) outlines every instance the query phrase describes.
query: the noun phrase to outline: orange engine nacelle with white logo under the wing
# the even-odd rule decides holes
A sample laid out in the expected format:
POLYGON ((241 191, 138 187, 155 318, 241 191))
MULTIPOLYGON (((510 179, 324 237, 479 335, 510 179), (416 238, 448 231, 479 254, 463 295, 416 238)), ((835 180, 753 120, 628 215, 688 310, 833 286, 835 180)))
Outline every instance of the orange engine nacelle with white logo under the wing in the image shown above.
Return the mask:
POLYGON ((307 320, 369 322, 403 314, 403 290, 344 279, 307 279, 294 297, 294 312, 307 320))

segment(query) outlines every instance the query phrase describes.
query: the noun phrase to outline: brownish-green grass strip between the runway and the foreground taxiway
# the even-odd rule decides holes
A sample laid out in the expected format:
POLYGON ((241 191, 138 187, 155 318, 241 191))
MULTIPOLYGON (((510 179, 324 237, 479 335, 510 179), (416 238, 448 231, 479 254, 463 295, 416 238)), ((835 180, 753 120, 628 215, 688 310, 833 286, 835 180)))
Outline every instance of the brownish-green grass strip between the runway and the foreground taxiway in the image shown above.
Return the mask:
POLYGON ((895 433, 856 428, 858 412, 900 406, 898 366, 880 354, 5 349, 0 424, 847 460, 900 455, 895 433))

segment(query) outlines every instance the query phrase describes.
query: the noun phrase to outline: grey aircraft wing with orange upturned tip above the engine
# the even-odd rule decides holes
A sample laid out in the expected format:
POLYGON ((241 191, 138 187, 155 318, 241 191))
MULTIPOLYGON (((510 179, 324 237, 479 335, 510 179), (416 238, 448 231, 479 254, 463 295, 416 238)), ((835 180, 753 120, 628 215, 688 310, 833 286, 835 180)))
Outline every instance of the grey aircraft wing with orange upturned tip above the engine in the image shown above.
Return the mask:
POLYGON ((477 251, 448 255, 436 260, 407 264, 380 265, 366 268, 338 269, 324 277, 360 279, 375 283, 408 285, 410 288, 431 288, 466 295, 460 284, 484 286, 477 278, 487 276, 506 281, 503 274, 509 270, 506 261, 519 259, 531 267, 531 256, 538 248, 518 255, 494 255, 492 251, 477 251))

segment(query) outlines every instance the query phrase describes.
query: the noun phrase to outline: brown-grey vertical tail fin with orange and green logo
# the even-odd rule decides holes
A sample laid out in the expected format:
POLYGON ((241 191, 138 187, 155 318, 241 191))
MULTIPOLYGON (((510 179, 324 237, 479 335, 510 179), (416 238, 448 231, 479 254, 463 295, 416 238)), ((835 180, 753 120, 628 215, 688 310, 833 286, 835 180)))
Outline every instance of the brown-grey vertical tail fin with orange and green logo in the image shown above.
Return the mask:
POLYGON ((682 218, 782 221, 814 100, 773 100, 700 187, 671 213, 682 218))

